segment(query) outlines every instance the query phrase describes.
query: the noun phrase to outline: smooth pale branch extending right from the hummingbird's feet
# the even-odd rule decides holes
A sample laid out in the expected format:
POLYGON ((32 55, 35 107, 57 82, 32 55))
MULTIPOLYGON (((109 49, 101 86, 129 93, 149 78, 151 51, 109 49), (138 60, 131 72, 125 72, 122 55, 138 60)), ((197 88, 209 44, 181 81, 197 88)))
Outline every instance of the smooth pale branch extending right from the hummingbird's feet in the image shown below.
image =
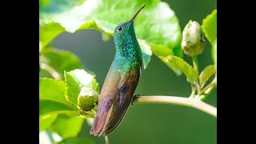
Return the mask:
POLYGON ((174 96, 134 96, 133 104, 173 104, 179 106, 193 107, 198 110, 202 110, 207 114, 210 114, 217 118, 217 108, 210 106, 206 102, 202 102, 195 98, 182 98, 174 96))

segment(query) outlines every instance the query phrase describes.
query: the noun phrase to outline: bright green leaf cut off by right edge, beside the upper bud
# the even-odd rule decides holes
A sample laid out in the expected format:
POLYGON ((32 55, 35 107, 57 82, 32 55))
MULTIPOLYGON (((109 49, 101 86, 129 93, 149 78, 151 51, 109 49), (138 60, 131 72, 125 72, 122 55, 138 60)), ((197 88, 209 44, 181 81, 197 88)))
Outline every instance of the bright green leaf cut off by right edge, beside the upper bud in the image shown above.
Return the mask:
POLYGON ((210 44, 213 45, 217 39, 217 10, 213 10, 211 14, 202 20, 202 31, 206 34, 210 44))

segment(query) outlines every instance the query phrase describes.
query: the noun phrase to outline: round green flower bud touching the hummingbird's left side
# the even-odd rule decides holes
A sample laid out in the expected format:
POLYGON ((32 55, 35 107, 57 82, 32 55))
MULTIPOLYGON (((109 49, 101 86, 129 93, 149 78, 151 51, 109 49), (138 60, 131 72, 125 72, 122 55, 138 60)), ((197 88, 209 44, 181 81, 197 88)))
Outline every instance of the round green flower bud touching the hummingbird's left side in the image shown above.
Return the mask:
POLYGON ((98 92, 89 87, 82 87, 78 96, 78 111, 86 118, 94 118, 98 109, 98 92))

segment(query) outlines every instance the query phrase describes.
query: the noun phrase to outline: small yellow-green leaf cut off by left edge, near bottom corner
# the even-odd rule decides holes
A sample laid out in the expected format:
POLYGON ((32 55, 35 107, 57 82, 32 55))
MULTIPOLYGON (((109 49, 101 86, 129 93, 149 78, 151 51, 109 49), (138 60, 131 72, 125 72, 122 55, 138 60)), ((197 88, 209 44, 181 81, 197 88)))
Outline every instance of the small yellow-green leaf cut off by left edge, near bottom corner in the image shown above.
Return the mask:
POLYGON ((49 114, 39 117, 39 132, 46 130, 57 118, 58 114, 49 114))

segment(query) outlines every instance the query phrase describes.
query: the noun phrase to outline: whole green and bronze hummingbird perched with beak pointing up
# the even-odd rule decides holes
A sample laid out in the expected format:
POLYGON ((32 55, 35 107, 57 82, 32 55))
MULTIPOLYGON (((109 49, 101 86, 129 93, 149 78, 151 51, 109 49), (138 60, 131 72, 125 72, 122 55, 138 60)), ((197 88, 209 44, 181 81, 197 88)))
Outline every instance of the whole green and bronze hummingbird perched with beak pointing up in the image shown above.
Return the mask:
POLYGON ((134 31, 134 20, 144 6, 133 18, 118 24, 114 29, 116 52, 98 98, 98 111, 90 129, 90 134, 94 136, 112 133, 124 118, 134 97, 144 70, 142 50, 134 31))

